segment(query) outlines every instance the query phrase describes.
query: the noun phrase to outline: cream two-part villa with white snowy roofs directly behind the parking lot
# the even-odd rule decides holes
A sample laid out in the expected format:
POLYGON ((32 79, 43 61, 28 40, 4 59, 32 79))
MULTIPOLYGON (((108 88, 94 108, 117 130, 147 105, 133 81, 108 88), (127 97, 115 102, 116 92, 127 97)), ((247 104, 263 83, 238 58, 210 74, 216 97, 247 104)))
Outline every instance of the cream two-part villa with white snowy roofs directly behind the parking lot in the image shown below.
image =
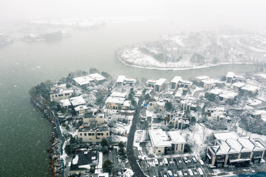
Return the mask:
POLYGON ((148 130, 150 143, 155 154, 184 153, 186 141, 180 131, 148 130))

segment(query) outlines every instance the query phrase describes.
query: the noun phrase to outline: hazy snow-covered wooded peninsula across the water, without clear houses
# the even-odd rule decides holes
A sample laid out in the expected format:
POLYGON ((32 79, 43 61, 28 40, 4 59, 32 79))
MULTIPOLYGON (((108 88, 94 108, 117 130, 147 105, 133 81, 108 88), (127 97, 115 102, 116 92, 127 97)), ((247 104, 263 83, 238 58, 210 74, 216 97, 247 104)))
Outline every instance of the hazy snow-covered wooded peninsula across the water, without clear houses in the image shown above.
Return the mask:
POLYGON ((266 35, 249 31, 240 33, 242 35, 230 31, 203 31, 162 35, 143 46, 123 49, 118 52, 117 59, 128 66, 158 70, 261 64, 265 60, 266 35))

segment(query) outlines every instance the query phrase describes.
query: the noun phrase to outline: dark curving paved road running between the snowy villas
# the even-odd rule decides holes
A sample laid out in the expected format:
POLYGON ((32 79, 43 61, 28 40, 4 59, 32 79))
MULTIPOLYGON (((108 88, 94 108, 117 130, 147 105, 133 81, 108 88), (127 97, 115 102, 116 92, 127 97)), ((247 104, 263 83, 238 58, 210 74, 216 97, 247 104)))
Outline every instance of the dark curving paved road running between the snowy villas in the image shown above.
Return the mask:
POLYGON ((126 152, 127 152, 127 158, 130 163, 130 166, 134 172, 135 177, 146 177, 144 173, 142 172, 139 164, 137 163, 137 159, 135 158, 134 155, 134 150, 133 150, 133 142, 134 142, 134 135, 136 131, 136 123, 138 121, 139 115, 140 115, 140 110, 141 110, 141 104, 144 100, 144 97, 139 98, 138 105, 136 107, 136 112, 134 115, 134 118, 132 119, 132 125, 130 128, 130 131, 128 133, 127 137, 127 144, 126 144, 126 152))

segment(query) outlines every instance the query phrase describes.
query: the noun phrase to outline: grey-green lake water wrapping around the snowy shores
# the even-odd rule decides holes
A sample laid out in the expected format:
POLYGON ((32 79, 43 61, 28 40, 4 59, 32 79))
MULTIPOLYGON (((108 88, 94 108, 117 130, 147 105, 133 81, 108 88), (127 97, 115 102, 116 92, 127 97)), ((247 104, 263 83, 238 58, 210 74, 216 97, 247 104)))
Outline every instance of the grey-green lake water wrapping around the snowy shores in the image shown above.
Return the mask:
MULTIPOLYGON (((30 103, 28 91, 46 80, 57 81, 69 72, 89 71, 90 67, 107 71, 115 78, 148 79, 174 76, 192 79, 200 75, 211 77, 257 71, 260 66, 226 65, 187 71, 157 71, 133 68, 116 59, 122 46, 155 40, 160 33, 178 31, 169 21, 162 25, 154 20, 107 24, 99 30, 67 30, 73 36, 60 41, 22 42, 0 47, 0 176, 49 177, 49 147, 51 124, 30 103)), ((59 30, 59 29, 58 29, 59 30)), ((188 29, 189 30, 189 29, 188 29)), ((55 31, 54 29, 51 31, 55 31)), ((29 33, 12 32, 10 37, 29 33)), ((38 34, 38 33, 37 33, 38 34)))

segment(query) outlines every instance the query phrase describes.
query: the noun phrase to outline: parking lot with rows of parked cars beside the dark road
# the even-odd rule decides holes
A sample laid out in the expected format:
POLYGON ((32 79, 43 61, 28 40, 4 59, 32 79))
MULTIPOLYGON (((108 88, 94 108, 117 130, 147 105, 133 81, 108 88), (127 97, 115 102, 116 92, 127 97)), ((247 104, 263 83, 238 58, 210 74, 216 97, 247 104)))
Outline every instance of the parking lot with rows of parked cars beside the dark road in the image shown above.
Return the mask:
POLYGON ((168 177, 168 170, 172 172, 173 177, 179 177, 178 171, 182 172, 183 177, 190 177, 188 169, 191 169, 194 177, 202 177, 198 174, 197 169, 199 167, 202 169, 204 177, 213 173, 212 169, 209 169, 206 164, 201 165, 198 159, 193 162, 193 157, 196 159, 195 156, 187 156, 186 162, 183 157, 171 157, 167 158, 168 163, 165 163, 163 158, 157 158, 158 165, 155 165, 154 160, 145 160, 140 162, 140 167, 149 177, 165 177, 164 175, 168 177))

